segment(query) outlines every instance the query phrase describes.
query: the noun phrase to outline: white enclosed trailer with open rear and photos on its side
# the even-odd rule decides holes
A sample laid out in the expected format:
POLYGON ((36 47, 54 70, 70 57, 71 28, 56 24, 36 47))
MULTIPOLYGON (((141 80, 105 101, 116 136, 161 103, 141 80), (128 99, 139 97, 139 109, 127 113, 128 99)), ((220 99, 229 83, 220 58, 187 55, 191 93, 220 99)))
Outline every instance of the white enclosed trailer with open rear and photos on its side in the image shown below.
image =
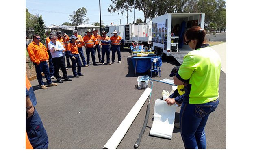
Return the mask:
POLYGON ((161 58, 173 56, 180 64, 191 51, 184 33, 192 26, 204 28, 205 13, 167 13, 152 19, 152 50, 161 58))

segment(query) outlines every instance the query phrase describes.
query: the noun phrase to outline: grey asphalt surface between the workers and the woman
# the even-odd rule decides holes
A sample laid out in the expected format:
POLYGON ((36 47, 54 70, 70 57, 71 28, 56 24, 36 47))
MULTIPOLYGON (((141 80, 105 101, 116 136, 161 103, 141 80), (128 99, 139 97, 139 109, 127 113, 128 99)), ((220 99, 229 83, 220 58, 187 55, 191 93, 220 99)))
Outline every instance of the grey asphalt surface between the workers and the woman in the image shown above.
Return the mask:
MULTIPOLYGON (((97 54, 96 54, 97 55, 97 54)), ((129 58, 129 50, 122 50, 122 63, 82 67, 85 76, 73 78, 72 68, 67 70, 70 82, 63 82, 46 90, 39 88, 37 80, 31 81, 37 97, 36 109, 41 116, 49 137, 49 149, 102 149, 144 89, 137 89, 137 76, 129 58)), ((116 54, 117 59, 117 54, 116 54)), ((98 61, 98 56, 96 56, 98 61)), ((91 61, 92 62, 92 61, 91 61)), ((117 62, 117 60, 116 60, 117 62)), ((171 69, 179 65, 174 58, 163 60, 162 80, 169 77, 171 69)), ((60 73, 61 76, 62 73, 60 73)), ((46 79, 43 79, 46 82, 46 79)), ((53 80, 56 82, 56 79, 53 80)), ((150 87, 150 86, 149 86, 150 87)), ((180 130, 174 128, 172 139, 150 136, 153 123, 154 101, 170 85, 153 82, 150 100, 150 117, 138 149, 184 149, 180 130)), ((220 103, 210 114, 205 132, 208 149, 226 149, 226 74, 221 71, 219 83, 220 103)), ((145 119, 148 100, 141 108, 117 149, 133 149, 145 119)), ((178 122, 180 108, 176 107, 178 122)))

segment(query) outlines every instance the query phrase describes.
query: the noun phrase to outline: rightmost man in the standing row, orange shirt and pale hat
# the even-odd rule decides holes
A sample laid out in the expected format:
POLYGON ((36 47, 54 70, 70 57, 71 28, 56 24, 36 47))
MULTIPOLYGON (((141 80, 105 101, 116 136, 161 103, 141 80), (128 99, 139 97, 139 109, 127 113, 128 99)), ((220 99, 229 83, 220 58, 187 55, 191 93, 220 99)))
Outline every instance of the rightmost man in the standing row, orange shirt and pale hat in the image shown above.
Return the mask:
POLYGON ((110 37, 112 47, 112 64, 115 63, 115 52, 117 52, 118 63, 121 63, 120 45, 124 44, 124 39, 122 39, 121 36, 117 35, 117 32, 117 30, 114 30, 114 35, 110 37))

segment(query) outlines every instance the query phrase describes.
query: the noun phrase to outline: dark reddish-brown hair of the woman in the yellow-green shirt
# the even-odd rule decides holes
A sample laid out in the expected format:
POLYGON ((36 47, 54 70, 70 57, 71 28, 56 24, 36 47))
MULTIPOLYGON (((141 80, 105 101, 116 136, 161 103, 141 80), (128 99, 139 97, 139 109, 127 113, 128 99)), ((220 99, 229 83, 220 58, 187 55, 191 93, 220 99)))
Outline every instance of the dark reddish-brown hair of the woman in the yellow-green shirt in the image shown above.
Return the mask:
MULTIPOLYGON (((193 26, 185 32, 187 40, 198 39, 197 45, 201 45, 204 42, 206 31, 199 26, 193 26)), ((185 40, 185 39, 184 39, 185 40)))

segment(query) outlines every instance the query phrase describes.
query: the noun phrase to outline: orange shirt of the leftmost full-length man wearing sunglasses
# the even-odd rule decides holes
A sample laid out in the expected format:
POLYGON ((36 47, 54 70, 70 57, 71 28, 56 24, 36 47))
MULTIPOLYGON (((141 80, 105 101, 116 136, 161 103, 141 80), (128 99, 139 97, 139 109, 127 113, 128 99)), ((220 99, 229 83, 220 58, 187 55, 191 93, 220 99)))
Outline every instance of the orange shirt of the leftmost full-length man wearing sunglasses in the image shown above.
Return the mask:
POLYGON ((37 65, 40 64, 40 62, 46 61, 49 59, 48 52, 46 50, 46 47, 39 42, 39 45, 37 45, 34 41, 32 41, 28 45, 28 54, 32 62, 36 63, 37 65))

